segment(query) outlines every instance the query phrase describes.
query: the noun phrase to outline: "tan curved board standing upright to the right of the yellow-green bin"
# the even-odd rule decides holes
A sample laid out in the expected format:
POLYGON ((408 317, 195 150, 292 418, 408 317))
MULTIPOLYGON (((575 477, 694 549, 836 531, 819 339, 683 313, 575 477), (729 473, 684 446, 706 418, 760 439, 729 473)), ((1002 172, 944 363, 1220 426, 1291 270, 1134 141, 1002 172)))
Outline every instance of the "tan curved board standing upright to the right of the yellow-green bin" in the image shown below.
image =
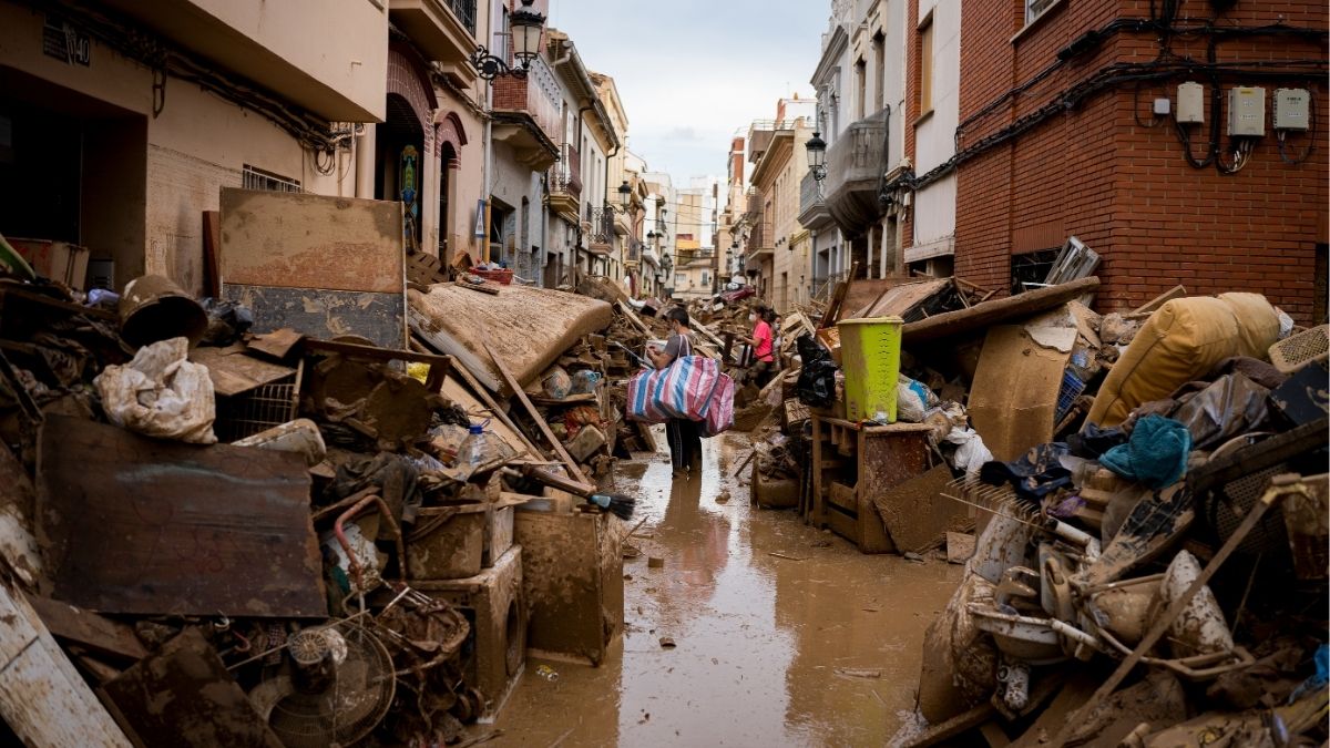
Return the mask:
POLYGON ((994 457, 1011 462, 1052 441, 1068 358, 1069 350, 1039 345, 1024 326, 988 330, 968 407, 975 431, 994 457))

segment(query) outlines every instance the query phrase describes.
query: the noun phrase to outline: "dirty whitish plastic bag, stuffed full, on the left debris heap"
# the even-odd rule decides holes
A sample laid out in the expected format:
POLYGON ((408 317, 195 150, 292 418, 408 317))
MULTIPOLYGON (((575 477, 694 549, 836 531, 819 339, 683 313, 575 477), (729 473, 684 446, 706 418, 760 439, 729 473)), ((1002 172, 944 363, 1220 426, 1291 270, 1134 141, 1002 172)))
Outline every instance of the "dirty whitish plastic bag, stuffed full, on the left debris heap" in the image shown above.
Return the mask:
POLYGON ((106 418, 145 437, 214 445, 217 402, 207 367, 188 359, 189 339, 170 338, 138 349, 124 366, 93 379, 106 418))

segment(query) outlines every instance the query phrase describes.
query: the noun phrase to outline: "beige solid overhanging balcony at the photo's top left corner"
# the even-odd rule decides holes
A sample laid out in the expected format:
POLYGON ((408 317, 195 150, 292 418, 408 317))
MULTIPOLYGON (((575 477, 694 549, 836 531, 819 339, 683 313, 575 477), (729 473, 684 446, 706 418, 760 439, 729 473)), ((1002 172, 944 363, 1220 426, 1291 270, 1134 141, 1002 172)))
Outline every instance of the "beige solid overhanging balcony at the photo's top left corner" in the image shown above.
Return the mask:
POLYGON ((388 16, 382 3, 106 0, 105 5, 325 120, 367 122, 384 116, 388 16), (315 29, 317 44, 310 36, 315 29))

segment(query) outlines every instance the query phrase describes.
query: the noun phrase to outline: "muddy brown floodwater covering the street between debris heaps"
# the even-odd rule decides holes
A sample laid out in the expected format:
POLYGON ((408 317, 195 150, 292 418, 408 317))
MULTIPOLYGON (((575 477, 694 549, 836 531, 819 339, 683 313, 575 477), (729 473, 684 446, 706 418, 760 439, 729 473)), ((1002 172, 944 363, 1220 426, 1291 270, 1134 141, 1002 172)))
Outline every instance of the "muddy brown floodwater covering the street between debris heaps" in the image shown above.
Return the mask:
POLYGON ((624 562, 622 647, 600 668, 529 660, 491 745, 883 745, 896 732, 960 567, 862 555, 794 511, 750 506, 730 475, 747 443, 706 441, 701 480, 672 484, 662 455, 620 465, 617 488, 646 518, 624 562))

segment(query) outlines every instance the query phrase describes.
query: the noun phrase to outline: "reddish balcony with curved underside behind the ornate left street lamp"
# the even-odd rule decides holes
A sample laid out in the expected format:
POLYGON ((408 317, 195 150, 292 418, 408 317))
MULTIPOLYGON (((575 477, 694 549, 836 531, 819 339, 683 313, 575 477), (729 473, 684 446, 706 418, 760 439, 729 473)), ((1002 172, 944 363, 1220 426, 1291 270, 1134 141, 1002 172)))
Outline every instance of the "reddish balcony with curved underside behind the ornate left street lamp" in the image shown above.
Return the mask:
POLYGON ((559 158, 555 137, 563 126, 559 83, 540 57, 525 77, 500 76, 493 81, 493 137, 507 144, 533 172, 544 172, 559 158))

